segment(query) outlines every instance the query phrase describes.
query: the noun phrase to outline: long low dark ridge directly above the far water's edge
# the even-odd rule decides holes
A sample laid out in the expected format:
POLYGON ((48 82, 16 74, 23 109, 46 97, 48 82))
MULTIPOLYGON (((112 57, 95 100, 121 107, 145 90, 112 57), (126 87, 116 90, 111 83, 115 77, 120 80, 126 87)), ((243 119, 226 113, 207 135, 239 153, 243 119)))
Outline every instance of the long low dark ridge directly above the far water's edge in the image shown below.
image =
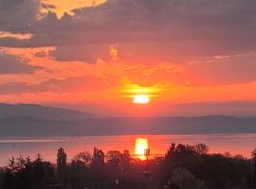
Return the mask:
POLYGON ((125 134, 204 134, 256 132, 256 118, 124 117, 46 120, 33 117, 0 119, 0 136, 72 136, 125 134))

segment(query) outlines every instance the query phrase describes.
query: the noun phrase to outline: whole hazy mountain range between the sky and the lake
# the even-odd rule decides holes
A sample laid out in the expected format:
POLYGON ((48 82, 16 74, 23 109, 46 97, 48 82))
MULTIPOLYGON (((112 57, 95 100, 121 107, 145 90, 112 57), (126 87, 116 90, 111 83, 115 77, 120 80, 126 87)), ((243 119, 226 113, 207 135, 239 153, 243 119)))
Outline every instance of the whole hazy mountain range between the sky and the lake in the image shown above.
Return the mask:
POLYGON ((0 137, 256 133, 256 117, 100 117, 39 105, 0 104, 0 137))

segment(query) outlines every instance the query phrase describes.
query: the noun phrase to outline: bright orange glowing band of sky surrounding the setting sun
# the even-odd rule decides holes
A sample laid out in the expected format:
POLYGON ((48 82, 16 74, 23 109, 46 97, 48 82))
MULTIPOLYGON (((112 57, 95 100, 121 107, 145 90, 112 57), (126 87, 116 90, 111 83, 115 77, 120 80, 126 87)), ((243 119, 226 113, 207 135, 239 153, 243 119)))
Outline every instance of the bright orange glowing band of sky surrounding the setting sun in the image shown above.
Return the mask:
MULTIPOLYGON (((223 110, 206 108, 204 111, 200 107, 194 110, 170 108, 179 103, 186 105, 210 101, 220 103, 230 101, 231 103, 233 101, 256 100, 256 81, 203 86, 190 84, 192 83, 190 80, 187 84, 176 83, 171 77, 166 76, 168 67, 165 64, 160 68, 155 65, 139 67, 101 61, 96 64, 80 61, 60 63, 58 60, 49 57, 49 52, 54 49, 55 47, 51 46, 38 48, 3 47, 2 52, 30 60, 30 65, 44 69, 38 69, 33 74, 1 75, 1 85, 23 82, 27 83, 28 86, 27 90, 22 90, 24 92, 21 94, 19 88, 17 88, 17 93, 0 94, 1 102, 51 103, 52 106, 54 106, 52 102, 72 106, 74 104, 88 104, 88 107, 87 105, 84 106, 84 109, 82 107, 82 111, 107 116, 169 116, 180 115, 183 112, 186 115, 191 115, 190 113, 217 114, 223 112, 230 114, 242 112, 241 109, 231 110, 229 107, 223 110), (45 52, 46 57, 35 56, 38 52, 45 52), (149 70, 154 69, 155 74, 147 74, 149 70), (51 70, 51 72, 48 70, 51 70), (81 81, 82 77, 87 77, 84 82, 81 81), (49 80, 49 78, 51 79, 49 80), (46 83, 44 84, 44 82, 46 83), (133 103, 138 94, 146 94, 150 98, 150 103, 147 106, 133 103), (109 111, 106 112, 106 108, 109 111)), ((115 58, 114 55, 115 53, 112 58, 115 58)), ((186 73, 178 74, 185 75, 186 73)), ((177 80, 179 79, 181 78, 177 78, 177 80)), ((9 87, 9 85, 4 87, 9 87)))

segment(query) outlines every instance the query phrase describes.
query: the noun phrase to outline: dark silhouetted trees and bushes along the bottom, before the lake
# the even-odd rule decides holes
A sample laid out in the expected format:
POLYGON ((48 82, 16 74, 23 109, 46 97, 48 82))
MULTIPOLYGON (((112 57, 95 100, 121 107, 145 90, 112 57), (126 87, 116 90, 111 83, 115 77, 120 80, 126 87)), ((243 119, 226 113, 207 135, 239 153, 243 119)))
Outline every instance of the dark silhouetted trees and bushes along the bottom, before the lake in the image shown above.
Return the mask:
POLYGON ((95 148, 66 163, 64 148, 57 163, 45 162, 40 154, 12 158, 0 170, 1 189, 246 189, 255 187, 255 158, 229 153, 208 154, 208 146, 174 144, 164 157, 141 161, 129 151, 95 148))

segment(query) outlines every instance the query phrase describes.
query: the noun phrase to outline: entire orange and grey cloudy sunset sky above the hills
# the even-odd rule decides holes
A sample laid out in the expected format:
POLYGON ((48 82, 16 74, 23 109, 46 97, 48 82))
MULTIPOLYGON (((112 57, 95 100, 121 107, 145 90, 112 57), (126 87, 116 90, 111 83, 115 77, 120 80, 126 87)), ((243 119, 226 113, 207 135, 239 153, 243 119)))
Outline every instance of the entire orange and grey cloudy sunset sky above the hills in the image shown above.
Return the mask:
POLYGON ((255 60, 255 0, 0 0, 3 103, 254 116, 255 60))

